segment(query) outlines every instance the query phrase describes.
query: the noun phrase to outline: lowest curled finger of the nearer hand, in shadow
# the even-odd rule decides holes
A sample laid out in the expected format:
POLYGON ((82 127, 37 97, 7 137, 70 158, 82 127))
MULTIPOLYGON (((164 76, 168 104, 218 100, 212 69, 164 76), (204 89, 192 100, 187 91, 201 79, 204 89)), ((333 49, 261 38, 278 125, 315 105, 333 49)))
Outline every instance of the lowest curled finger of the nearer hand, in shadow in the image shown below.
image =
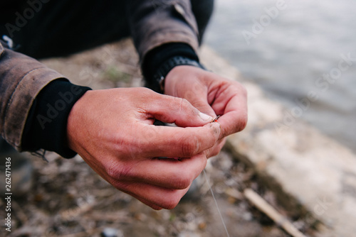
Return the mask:
MULTIPOLYGON (((190 186, 189 186, 190 187, 190 186)), ((130 194, 132 197, 140 200, 153 209, 173 209, 179 203, 180 199, 188 192, 186 189, 167 189, 157 187, 152 184, 126 182, 120 184, 117 188, 122 192, 130 194)))

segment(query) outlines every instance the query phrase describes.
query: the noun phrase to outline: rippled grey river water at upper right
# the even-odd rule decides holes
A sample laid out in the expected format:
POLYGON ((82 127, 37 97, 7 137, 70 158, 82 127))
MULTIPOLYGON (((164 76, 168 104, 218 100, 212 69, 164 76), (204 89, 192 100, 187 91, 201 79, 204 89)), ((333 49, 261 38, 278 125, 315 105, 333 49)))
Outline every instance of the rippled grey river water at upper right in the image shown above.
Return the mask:
POLYGON ((204 40, 356 153, 355 10, 355 0, 216 0, 204 40))

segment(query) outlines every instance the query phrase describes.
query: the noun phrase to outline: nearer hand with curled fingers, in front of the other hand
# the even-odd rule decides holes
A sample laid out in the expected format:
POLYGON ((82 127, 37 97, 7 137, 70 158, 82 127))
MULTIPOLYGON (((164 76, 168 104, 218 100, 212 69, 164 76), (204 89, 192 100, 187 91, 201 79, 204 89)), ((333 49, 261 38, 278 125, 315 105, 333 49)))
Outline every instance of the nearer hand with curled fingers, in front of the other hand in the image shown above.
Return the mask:
POLYGON ((172 209, 204 169, 203 151, 221 137, 212 120, 187 100, 150 89, 88 91, 68 116, 68 145, 117 189, 172 209), (155 126, 155 118, 179 127, 155 126))

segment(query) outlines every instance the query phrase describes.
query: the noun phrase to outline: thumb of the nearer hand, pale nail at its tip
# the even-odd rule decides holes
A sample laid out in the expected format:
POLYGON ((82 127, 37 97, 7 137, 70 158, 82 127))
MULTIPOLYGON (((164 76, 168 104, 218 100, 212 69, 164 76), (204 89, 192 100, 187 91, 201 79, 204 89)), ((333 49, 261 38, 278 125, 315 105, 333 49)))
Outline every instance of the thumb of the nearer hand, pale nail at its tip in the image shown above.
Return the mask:
POLYGON ((176 123, 181 127, 203 126, 213 117, 201 113, 186 99, 160 95, 154 103, 145 104, 145 113, 164 123, 176 123))

